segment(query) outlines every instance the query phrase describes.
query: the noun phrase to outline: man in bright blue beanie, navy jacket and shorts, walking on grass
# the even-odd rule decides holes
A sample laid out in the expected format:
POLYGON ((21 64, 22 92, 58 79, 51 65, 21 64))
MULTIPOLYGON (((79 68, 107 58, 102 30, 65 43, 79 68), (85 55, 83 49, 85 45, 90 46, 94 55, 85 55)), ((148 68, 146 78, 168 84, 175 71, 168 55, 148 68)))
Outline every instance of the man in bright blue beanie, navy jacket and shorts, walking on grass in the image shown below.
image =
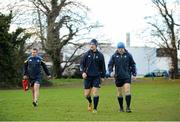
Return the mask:
POLYGON ((117 87, 117 99, 120 106, 120 112, 124 112, 123 108, 123 92, 126 99, 126 112, 131 112, 131 76, 132 80, 136 78, 136 64, 132 55, 125 49, 125 45, 119 42, 116 52, 112 55, 108 64, 108 73, 111 77, 114 76, 117 87), (113 74, 113 67, 115 66, 115 74, 113 74))

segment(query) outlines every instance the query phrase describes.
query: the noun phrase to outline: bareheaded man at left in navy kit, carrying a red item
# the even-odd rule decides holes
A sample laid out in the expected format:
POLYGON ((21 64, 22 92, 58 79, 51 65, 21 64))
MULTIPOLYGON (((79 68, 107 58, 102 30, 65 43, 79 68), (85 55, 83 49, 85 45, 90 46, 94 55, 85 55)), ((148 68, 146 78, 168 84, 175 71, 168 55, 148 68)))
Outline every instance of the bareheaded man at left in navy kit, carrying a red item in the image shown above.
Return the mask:
POLYGON ((38 106, 39 88, 41 82, 41 66, 43 67, 48 78, 51 75, 47 69, 45 62, 38 56, 38 50, 34 48, 32 54, 24 62, 24 76, 23 79, 29 79, 30 86, 32 87, 32 97, 34 107, 38 106))

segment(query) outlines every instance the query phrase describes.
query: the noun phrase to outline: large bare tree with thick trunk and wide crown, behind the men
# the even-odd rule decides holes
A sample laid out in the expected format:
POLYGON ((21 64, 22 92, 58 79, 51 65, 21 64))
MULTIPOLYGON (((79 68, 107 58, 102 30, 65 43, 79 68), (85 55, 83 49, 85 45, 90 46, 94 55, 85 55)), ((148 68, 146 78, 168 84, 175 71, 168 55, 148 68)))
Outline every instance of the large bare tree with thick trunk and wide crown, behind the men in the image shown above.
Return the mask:
POLYGON ((89 40, 93 29, 102 27, 98 22, 89 21, 89 8, 77 0, 17 0, 8 3, 3 10, 13 11, 14 25, 25 27, 33 37, 39 37, 53 61, 57 78, 82 55, 77 55, 83 46, 80 42, 89 40), (68 45, 75 48, 69 59, 63 60, 63 49, 68 45))

